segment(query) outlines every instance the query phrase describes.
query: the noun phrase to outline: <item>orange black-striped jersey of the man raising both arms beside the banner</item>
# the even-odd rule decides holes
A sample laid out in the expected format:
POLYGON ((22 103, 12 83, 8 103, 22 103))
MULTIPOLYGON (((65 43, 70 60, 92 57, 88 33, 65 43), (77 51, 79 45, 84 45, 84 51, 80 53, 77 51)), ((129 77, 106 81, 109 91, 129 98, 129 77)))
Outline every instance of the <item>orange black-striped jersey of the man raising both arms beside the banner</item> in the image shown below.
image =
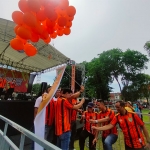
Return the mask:
POLYGON ((73 105, 66 98, 58 98, 55 107, 55 134, 57 136, 70 131, 73 105))

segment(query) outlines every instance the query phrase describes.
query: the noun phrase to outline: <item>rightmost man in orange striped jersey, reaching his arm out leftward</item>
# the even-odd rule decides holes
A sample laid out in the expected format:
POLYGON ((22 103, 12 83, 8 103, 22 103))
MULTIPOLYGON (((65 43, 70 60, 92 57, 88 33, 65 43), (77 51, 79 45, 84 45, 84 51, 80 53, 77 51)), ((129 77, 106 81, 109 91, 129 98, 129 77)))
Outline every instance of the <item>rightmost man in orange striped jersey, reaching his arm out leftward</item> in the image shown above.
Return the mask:
POLYGON ((118 123, 123 134, 125 142, 125 150, 145 150, 150 149, 150 136, 144 125, 144 122, 134 112, 128 112, 125 109, 125 103, 118 101, 115 104, 118 114, 113 120, 103 127, 92 127, 99 131, 112 129, 118 123), (145 143, 143 133, 147 144, 145 143))

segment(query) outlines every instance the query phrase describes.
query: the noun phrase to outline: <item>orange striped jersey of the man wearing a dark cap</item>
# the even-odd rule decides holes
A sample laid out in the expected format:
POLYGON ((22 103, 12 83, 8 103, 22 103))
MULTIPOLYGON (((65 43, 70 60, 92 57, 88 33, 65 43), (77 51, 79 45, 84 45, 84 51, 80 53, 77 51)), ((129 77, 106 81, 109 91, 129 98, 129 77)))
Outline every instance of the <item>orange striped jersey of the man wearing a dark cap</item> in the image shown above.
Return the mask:
POLYGON ((83 115, 85 116, 85 123, 83 129, 86 129, 88 132, 95 134, 95 131, 92 130, 92 126, 95 126, 96 124, 90 123, 89 119, 97 120, 98 114, 96 112, 85 111, 83 115))

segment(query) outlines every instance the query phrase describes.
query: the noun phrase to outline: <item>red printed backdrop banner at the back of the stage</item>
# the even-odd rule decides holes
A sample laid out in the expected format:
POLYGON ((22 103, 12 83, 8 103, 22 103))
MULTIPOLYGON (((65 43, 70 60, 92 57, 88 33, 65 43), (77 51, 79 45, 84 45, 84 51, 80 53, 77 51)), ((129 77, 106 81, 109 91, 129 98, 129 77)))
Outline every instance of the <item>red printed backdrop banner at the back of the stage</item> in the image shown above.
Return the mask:
POLYGON ((30 74, 26 72, 19 72, 16 70, 10 70, 6 68, 0 68, 0 77, 4 77, 6 79, 6 87, 7 90, 9 88, 8 82, 12 81, 12 79, 16 79, 16 87, 14 89, 15 92, 27 92, 28 89, 28 81, 30 74))

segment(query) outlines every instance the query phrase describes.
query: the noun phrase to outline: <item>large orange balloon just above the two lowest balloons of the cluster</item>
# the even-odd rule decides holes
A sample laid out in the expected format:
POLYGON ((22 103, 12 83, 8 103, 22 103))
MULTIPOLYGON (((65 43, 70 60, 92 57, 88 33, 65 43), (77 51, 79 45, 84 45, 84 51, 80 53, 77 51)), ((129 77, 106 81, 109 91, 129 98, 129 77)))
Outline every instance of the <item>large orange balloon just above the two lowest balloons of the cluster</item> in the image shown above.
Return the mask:
POLYGON ((31 38, 31 32, 29 31, 29 29, 21 26, 18 28, 17 30, 18 35, 23 38, 23 39, 30 39, 31 38))

